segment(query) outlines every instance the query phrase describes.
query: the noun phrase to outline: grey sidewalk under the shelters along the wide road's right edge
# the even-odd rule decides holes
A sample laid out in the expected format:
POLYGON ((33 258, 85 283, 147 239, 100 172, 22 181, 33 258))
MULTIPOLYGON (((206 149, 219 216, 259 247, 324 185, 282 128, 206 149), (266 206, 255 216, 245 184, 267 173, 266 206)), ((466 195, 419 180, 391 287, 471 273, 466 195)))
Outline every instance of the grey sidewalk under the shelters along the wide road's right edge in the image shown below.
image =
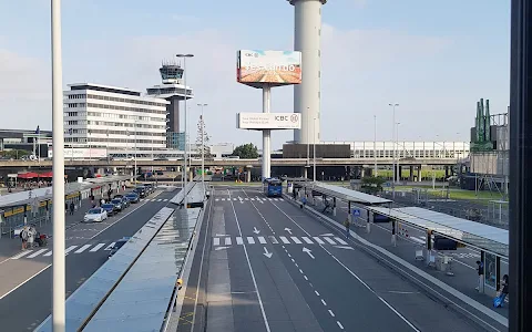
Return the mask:
MULTIPOLYGON (((287 200, 294 203, 293 197, 285 196, 287 200)), ((347 217, 347 214, 340 209, 337 210, 337 216, 332 216, 332 214, 321 214, 324 209, 324 205, 321 204, 320 198, 316 198, 316 205, 311 204, 311 199, 309 200, 308 208, 309 212, 314 215, 323 216, 324 219, 329 219, 338 222, 337 228, 344 229, 341 224, 347 217)), ((299 203, 297 203, 299 204, 299 203)), ((495 321, 503 321, 505 320, 505 326, 508 326, 508 315, 509 315, 509 304, 505 303, 504 308, 493 308, 493 298, 489 297, 484 293, 479 293, 474 288, 477 287, 478 276, 475 270, 469 269, 459 263, 453 264, 452 270, 454 272, 453 277, 447 276, 442 271, 438 271, 434 268, 427 267, 424 261, 417 261, 415 259, 415 250, 416 245, 398 238, 397 247, 391 245, 391 236, 382 229, 379 229, 375 225, 371 227, 370 234, 366 232, 366 227, 351 227, 351 235, 355 237, 359 237, 361 241, 366 241, 371 243, 374 247, 381 248, 380 251, 387 251, 388 257, 396 257, 395 260, 399 262, 402 260, 407 262, 407 264, 411 266, 411 269, 408 268, 411 272, 417 273, 419 277, 424 279, 426 281, 431 282, 433 286, 438 287, 438 283, 434 283, 430 280, 430 278, 437 279, 439 283, 443 283, 447 286, 447 290, 450 295, 457 298, 458 300, 464 302, 466 304, 470 305, 477 312, 483 312, 485 315, 490 317, 495 321), (417 271, 416 271, 417 270, 417 271), (422 276, 423 273, 428 276, 422 276), (429 279, 427 279, 429 278, 429 279), (459 297, 453 294, 453 292, 459 292, 459 297), (466 301, 463 301, 466 300, 466 301), (478 302, 477 304, 474 302, 478 302), (483 307, 483 308, 482 308, 483 307)))

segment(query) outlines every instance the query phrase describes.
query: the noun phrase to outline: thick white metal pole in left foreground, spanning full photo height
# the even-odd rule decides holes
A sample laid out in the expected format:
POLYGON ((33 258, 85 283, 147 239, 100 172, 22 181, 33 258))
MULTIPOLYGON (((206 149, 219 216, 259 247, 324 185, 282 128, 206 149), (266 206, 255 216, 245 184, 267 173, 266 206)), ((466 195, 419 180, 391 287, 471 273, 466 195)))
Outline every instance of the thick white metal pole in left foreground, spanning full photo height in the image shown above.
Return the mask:
POLYGON ((53 257, 52 257, 52 326, 65 331, 65 268, 64 268, 64 124, 63 79, 61 58, 61 0, 51 2, 52 32, 52 132, 53 132, 53 257))

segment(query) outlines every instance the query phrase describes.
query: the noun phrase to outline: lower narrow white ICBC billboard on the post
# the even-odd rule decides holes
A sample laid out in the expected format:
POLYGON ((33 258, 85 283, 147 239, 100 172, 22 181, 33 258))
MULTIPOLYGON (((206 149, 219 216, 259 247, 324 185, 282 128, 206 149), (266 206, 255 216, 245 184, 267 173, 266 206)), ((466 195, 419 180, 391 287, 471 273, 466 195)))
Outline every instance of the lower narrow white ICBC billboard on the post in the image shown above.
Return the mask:
POLYGON ((238 129, 300 129, 299 113, 238 113, 238 129))

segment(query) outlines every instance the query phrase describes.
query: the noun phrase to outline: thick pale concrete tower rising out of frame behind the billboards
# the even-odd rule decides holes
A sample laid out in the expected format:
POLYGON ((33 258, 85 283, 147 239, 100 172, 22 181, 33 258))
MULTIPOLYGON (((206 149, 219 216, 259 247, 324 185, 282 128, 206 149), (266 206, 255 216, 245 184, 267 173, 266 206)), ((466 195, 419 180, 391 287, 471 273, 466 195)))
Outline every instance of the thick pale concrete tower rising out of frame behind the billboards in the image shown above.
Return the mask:
POLYGON ((318 143, 320 135, 321 6, 327 0, 287 0, 295 7, 294 50, 301 52, 303 82, 294 86, 294 112, 301 113, 295 143, 318 143), (316 121, 314 120, 316 118, 316 121))

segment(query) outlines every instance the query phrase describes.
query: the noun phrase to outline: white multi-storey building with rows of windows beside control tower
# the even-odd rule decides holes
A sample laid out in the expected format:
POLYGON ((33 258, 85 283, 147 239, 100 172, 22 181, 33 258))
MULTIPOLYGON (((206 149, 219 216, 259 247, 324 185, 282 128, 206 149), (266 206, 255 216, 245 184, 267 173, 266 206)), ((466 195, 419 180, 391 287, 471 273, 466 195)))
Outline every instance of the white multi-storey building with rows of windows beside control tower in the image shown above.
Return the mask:
MULTIPOLYGON (((130 153, 166 148, 164 98, 131 89, 70 84, 64 92, 64 142, 72 148, 130 153)), ((68 148, 65 148, 68 155, 68 148)))

